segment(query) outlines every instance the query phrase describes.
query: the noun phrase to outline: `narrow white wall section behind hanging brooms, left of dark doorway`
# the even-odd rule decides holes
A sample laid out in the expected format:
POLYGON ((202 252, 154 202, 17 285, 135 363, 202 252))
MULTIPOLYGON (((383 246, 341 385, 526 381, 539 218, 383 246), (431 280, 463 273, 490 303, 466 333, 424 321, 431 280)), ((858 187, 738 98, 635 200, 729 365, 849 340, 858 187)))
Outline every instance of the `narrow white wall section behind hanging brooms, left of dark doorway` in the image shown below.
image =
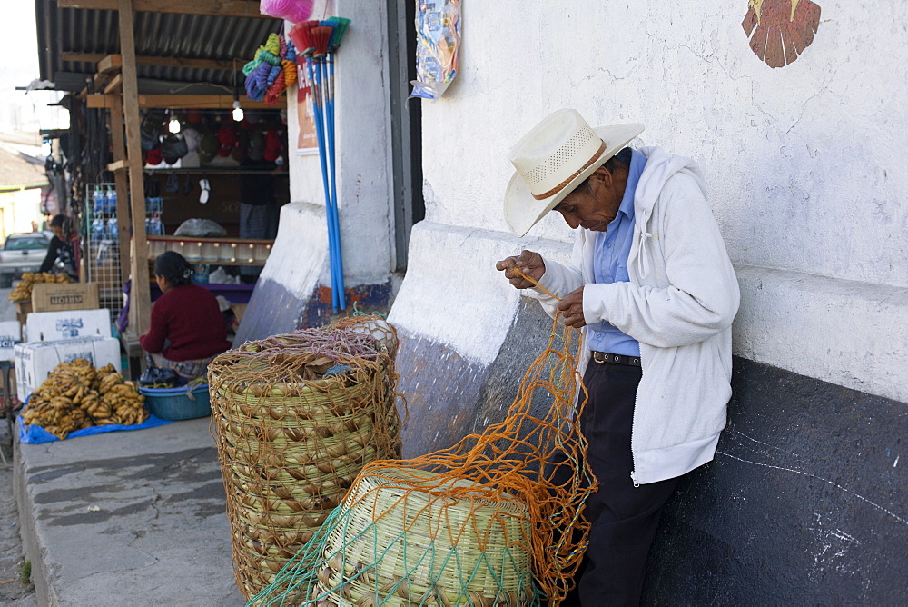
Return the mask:
MULTIPOLYGON (((335 62, 335 149, 344 284, 384 283, 393 265, 392 204, 386 89, 384 6, 337 0, 315 3, 312 18, 351 20, 335 62), (325 5, 329 5, 327 8, 325 5)), ((288 24, 290 26, 290 24, 288 24)), ((324 206, 318 154, 295 154, 299 134, 296 87, 288 94, 291 201, 324 206)), ((300 238, 327 231, 305 224, 300 238)), ((327 260, 327 258, 326 258, 327 260)), ((325 261, 327 264, 328 262, 325 261)), ((325 272, 330 276, 330 272, 325 272)), ((330 280, 326 284, 330 284, 330 280)))

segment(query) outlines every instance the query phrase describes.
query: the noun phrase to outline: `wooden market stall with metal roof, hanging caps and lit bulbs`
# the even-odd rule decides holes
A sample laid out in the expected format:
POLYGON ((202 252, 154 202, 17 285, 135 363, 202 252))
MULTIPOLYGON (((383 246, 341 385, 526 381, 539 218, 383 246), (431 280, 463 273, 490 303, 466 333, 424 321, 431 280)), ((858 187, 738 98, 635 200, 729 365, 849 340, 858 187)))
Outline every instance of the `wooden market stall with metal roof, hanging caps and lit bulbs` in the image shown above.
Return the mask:
MULTIPOLYGON (((242 313, 276 234, 277 209, 289 200, 283 89, 250 99, 242 68, 281 20, 247 0, 59 0, 36 10, 42 73, 70 92, 63 104, 72 126, 57 136, 80 279, 98 285, 125 352, 139 360, 156 295, 149 267, 162 243, 150 238, 192 239, 196 282, 223 284, 211 288, 227 313, 242 313), (217 227, 185 225, 195 220, 217 227), (253 239, 253 254, 202 259, 204 238, 232 252, 253 239)), ((182 244, 163 246, 183 253, 182 244)))

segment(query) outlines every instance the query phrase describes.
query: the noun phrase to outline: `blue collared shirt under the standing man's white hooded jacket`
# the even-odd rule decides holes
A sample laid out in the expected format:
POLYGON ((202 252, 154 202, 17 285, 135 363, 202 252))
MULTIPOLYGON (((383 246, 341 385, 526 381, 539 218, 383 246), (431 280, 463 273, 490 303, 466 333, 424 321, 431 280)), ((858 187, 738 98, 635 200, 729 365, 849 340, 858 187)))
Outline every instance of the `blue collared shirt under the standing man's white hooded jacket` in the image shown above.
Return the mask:
MULTIPOLYGON (((627 283, 627 257, 630 256, 630 245, 634 240, 634 193, 640 174, 646 166, 646 156, 634 150, 631 155, 630 168, 627 170, 627 186, 618 214, 605 232, 596 234, 596 247, 593 257, 593 277, 597 283, 627 283)), ((612 323, 589 325, 587 347, 598 352, 639 356, 640 344, 637 340, 621 333, 612 323)))

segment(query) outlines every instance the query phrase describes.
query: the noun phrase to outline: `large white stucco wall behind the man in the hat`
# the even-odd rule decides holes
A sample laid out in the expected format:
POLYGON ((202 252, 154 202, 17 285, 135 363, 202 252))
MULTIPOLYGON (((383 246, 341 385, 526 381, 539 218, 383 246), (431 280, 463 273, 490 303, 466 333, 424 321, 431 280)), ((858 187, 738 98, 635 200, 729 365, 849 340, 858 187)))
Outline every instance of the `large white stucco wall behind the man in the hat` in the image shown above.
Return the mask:
POLYGON ((813 45, 779 69, 748 46, 746 0, 463 5, 457 81, 422 105, 426 234, 410 249, 397 322, 466 355, 500 345, 420 320, 420 298, 446 282, 431 279, 444 260, 426 238, 447 229, 473 252, 456 263, 464 288, 496 288, 486 257, 502 249, 564 254, 572 234, 558 216, 523 241, 505 234, 501 196, 509 146, 575 107, 594 125, 642 122, 638 144, 703 167, 743 288, 736 353, 908 401, 908 5, 817 4, 813 45), (431 284, 414 289, 414 273, 431 284))

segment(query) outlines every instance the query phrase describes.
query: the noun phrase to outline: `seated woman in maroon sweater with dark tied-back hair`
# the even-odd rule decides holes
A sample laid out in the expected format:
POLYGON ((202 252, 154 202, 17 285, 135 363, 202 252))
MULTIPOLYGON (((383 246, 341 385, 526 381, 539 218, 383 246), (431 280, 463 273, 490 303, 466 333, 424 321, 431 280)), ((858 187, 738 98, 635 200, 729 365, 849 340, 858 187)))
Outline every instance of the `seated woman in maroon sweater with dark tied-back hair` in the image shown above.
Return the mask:
POLYGON ((231 347, 218 300, 192 284, 192 265, 168 251, 154 260, 163 295, 152 306, 152 324, 139 343, 154 363, 192 381, 208 372, 208 363, 231 347))

